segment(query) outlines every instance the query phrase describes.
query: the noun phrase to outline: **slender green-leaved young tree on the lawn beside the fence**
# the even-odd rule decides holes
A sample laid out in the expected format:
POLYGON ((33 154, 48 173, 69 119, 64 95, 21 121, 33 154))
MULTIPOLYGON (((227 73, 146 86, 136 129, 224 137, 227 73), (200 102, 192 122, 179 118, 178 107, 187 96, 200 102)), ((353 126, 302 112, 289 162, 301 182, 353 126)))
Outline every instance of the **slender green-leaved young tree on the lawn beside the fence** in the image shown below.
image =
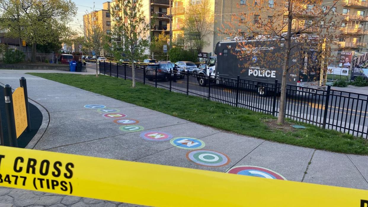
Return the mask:
POLYGON ((131 61, 132 65, 132 87, 135 87, 134 61, 142 56, 145 50, 149 49, 149 30, 151 28, 150 19, 145 19, 142 10, 142 0, 117 0, 116 6, 112 8, 111 15, 116 19, 113 26, 113 38, 121 38, 119 44, 113 45, 113 54, 123 53, 131 61), (123 14, 119 15, 119 11, 123 14), (115 46, 115 47, 114 47, 115 46))

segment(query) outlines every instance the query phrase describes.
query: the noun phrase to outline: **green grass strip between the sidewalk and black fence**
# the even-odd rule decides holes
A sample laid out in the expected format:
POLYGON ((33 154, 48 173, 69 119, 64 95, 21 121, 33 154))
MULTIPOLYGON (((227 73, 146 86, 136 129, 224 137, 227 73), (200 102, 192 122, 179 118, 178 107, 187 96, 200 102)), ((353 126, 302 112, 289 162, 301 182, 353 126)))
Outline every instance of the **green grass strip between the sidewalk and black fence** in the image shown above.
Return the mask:
MULTIPOLYGON (((131 81, 121 78, 105 75, 95 78, 94 75, 78 74, 29 74, 229 132, 320 150, 368 154, 368 142, 365 139, 308 124, 302 124, 307 126, 307 129, 279 128, 275 124, 269 124, 275 122, 276 118, 272 115, 186 96, 141 83, 137 83, 137 86, 132 88, 131 81)), ((289 121, 290 123, 284 126, 297 123, 289 121)))

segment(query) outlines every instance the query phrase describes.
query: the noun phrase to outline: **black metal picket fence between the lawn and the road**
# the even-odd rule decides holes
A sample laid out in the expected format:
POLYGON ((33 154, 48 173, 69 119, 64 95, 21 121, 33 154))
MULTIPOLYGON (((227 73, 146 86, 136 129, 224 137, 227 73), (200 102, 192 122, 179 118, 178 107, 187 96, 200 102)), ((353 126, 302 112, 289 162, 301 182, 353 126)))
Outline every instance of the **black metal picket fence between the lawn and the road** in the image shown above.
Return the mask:
MULTIPOLYGON (((126 64, 99 63, 100 74, 132 80, 126 64)), ((246 79, 211 78, 198 74, 135 68, 137 82, 177 93, 229 104, 234 107, 279 115, 281 84, 246 79), (260 95, 262 94, 262 95, 260 95)), ((368 138, 368 96, 365 94, 311 89, 287 85, 286 117, 322 128, 368 138)))

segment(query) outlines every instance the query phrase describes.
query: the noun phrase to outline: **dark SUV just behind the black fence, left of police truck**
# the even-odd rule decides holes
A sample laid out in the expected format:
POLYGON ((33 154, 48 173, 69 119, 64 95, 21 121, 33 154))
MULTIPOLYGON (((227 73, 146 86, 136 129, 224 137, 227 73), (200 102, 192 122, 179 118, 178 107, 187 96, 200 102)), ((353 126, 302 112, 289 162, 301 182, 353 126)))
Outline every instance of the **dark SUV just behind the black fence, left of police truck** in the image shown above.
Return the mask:
MULTIPOLYGON (((151 63, 147 65, 148 70, 146 71, 146 78, 149 81, 153 81, 156 78, 157 68, 157 79, 162 81, 168 81, 170 77, 170 69, 174 67, 173 63, 151 63)), ((171 76, 173 73, 171 73, 171 76)))

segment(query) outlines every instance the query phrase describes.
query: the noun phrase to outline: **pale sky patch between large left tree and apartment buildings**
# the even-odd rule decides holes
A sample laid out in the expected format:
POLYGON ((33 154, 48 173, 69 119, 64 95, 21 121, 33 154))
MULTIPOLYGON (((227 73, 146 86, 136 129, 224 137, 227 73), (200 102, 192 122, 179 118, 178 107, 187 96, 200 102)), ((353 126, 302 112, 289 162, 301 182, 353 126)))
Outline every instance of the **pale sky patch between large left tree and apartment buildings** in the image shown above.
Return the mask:
POLYGON ((83 15, 86 14, 86 11, 91 12, 93 11, 93 3, 95 4, 95 10, 101 10, 102 9, 102 3, 108 1, 108 0, 72 0, 78 7, 78 13, 74 17, 74 19, 69 22, 70 27, 72 29, 77 30, 80 34, 82 34, 81 26, 83 26, 83 15))

